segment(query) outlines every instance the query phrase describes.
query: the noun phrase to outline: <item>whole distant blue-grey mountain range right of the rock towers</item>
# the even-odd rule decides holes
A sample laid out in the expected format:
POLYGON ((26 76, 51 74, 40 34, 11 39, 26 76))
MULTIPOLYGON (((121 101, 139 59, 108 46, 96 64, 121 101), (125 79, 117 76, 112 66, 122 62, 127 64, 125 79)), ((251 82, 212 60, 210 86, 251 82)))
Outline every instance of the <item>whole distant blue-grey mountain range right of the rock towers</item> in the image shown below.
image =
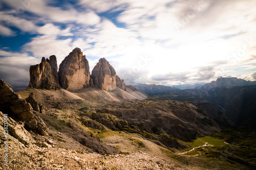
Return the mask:
POLYGON ((211 103, 223 111, 237 126, 256 128, 256 81, 218 78, 200 89, 178 89, 161 85, 135 85, 157 99, 211 103), (162 91, 161 91, 162 90, 162 91))

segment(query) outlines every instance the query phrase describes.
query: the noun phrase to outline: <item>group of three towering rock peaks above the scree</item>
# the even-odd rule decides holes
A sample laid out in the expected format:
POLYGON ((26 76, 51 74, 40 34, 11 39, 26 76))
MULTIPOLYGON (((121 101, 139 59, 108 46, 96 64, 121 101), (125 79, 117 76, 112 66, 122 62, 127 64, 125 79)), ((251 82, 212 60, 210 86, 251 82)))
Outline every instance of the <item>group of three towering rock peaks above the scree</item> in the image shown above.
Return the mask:
POLYGON ((133 86, 126 86, 124 80, 116 75, 112 65, 105 59, 99 59, 90 75, 89 62, 80 48, 74 50, 60 63, 57 72, 57 60, 51 56, 50 60, 42 58, 41 63, 30 66, 29 87, 38 89, 80 90, 87 87, 96 87, 100 90, 115 90, 120 88, 124 91, 133 86))

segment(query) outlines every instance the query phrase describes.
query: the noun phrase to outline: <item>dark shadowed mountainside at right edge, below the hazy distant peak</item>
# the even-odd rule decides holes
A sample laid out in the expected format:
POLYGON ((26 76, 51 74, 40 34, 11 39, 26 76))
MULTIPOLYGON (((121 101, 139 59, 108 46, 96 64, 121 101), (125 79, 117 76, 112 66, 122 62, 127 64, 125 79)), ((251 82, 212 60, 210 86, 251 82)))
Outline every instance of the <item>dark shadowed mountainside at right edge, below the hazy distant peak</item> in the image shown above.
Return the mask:
POLYGON ((256 86, 218 87, 208 93, 207 101, 216 105, 237 126, 256 128, 256 86))

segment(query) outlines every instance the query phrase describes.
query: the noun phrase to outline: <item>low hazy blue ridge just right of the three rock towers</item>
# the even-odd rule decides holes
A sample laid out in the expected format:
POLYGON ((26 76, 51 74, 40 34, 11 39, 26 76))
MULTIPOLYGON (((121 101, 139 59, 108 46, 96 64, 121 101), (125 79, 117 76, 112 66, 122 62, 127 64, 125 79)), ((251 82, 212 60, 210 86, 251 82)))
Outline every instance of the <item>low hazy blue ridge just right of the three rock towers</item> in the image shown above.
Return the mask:
POLYGON ((136 84, 136 85, 134 85, 134 87, 136 87, 138 90, 140 90, 141 92, 143 92, 145 94, 152 94, 152 93, 156 93, 159 91, 166 91, 166 90, 173 90, 173 91, 180 90, 176 87, 168 87, 168 86, 163 86, 163 85, 145 84, 145 83, 136 84))

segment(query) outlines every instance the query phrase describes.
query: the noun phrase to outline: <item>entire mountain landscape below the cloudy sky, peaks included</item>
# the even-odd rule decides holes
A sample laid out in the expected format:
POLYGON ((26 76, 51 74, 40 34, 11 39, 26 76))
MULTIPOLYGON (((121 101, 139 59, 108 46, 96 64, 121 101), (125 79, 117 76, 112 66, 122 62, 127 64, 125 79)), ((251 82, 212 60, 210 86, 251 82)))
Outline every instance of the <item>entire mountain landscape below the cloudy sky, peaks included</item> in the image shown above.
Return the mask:
POLYGON ((0 80, 9 169, 256 168, 256 82, 126 85, 105 58, 90 72, 80 48, 29 72, 22 91, 0 80))

